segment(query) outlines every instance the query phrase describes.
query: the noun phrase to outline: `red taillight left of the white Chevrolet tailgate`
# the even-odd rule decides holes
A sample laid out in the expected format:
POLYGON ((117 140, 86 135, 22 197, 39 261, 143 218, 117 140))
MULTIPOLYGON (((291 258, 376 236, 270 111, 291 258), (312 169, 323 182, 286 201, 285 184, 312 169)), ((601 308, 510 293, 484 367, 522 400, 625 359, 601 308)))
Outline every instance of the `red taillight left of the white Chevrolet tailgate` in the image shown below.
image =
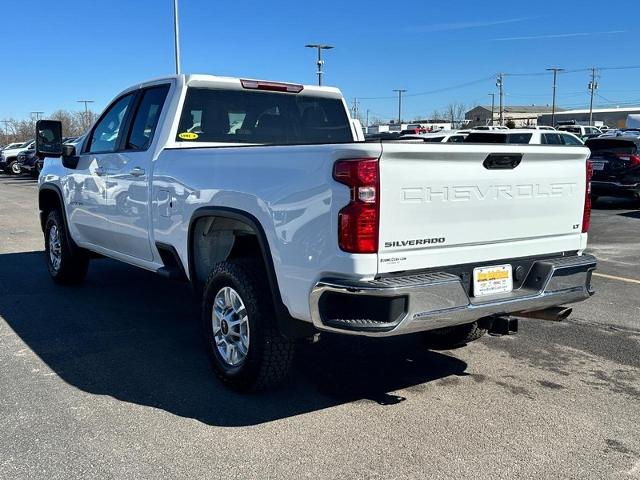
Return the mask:
POLYGON ((338 214, 338 244, 349 253, 376 253, 380 216, 378 159, 338 160, 333 178, 351 191, 349 204, 338 214))

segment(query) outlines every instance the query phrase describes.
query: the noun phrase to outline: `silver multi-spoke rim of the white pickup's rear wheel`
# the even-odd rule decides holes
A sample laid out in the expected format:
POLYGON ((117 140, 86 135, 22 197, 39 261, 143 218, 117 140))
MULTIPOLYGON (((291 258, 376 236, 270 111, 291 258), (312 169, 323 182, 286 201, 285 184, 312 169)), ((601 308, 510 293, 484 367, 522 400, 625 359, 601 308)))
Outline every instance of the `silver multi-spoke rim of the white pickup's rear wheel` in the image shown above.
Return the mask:
POLYGON ((213 342, 228 366, 238 366, 249 352, 249 319, 244 302, 231 287, 221 288, 213 301, 211 314, 213 342))

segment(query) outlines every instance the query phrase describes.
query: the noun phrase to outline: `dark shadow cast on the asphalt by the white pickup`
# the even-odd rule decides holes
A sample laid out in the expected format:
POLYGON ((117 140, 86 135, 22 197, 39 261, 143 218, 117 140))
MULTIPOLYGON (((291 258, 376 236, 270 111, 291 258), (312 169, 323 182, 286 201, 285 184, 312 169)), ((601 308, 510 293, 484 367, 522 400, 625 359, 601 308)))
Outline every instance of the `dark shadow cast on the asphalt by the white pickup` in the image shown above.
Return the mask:
POLYGON ((49 279, 43 252, 0 255, 0 316, 62 380, 85 392, 210 425, 255 425, 353 401, 393 405, 393 392, 466 363, 420 338, 327 338, 302 345, 291 382, 240 395, 210 369, 187 284, 111 260, 93 261, 81 287, 49 279))

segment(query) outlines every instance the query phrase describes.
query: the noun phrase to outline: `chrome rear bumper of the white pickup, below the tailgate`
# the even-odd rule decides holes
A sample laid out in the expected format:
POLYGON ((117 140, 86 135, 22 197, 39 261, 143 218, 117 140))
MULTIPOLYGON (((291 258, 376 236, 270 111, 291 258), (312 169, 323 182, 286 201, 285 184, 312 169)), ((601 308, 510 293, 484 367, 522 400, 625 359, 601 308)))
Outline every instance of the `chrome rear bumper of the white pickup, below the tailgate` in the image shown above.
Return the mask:
POLYGON ((491 315, 585 300, 593 295, 591 273, 595 268, 592 255, 538 260, 518 289, 481 298, 470 297, 461 277, 446 272, 368 282, 325 279, 311 292, 311 316, 318 330, 353 335, 378 337, 433 330, 491 315), (363 306, 362 313, 357 311, 358 305, 363 306), (341 310, 349 311, 351 318, 339 318, 341 310), (384 315, 378 315, 380 310, 384 315))

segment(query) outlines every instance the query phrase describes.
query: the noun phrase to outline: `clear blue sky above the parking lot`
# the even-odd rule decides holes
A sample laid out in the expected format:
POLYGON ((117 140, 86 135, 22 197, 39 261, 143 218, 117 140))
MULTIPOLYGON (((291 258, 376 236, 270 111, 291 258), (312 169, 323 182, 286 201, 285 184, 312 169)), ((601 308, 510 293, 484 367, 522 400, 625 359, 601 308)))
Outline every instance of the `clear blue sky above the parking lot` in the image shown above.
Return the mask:
MULTIPOLYGON (((101 110, 130 84, 173 73, 172 0, 2 3, 0 120, 79 110, 79 99, 101 110)), ((640 65, 638 0, 447 3, 181 0, 182 68, 314 83, 315 53, 304 45, 329 43, 326 83, 387 119, 394 88, 408 90, 409 118, 490 103, 500 71, 640 65)), ((588 75, 559 76, 559 106, 588 105, 588 75)), ((596 105, 640 104, 640 68, 602 70, 599 84, 596 105)), ((507 76, 505 92, 507 105, 547 104, 551 77, 507 76)))

